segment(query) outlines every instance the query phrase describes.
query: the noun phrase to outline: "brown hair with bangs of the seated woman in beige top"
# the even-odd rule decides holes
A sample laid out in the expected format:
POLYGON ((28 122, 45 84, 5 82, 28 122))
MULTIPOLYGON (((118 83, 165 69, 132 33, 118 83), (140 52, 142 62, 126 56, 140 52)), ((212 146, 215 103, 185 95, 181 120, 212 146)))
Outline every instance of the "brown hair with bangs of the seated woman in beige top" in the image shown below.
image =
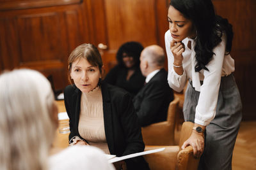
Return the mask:
POLYGON ((100 74, 102 74, 102 59, 99 53, 99 50, 96 46, 92 44, 84 43, 82 45, 77 46, 75 50, 73 50, 68 57, 68 81, 72 83, 70 73, 72 70, 72 63, 79 59, 86 59, 92 66, 99 67, 100 74))

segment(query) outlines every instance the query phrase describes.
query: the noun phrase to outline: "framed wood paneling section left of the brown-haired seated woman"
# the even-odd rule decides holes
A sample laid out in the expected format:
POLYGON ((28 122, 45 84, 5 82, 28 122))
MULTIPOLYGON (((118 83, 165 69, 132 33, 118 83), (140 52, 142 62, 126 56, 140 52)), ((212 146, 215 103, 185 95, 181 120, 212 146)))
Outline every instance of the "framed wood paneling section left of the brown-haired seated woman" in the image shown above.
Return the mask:
POLYGON ((28 67, 45 76, 52 74, 56 89, 63 89, 68 84, 69 53, 86 39, 90 41, 84 22, 84 3, 0 10, 0 57, 4 61, 0 68, 28 67))

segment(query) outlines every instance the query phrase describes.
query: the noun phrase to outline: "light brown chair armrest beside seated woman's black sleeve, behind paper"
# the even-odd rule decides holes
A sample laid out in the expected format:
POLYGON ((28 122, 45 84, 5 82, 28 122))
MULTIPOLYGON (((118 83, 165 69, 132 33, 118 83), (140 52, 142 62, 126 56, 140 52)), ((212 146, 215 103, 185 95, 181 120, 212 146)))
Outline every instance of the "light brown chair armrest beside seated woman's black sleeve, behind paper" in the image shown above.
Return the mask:
POLYGON ((145 146, 145 150, 154 150, 159 148, 165 148, 161 152, 151 153, 143 155, 151 170, 174 170, 176 166, 177 154, 179 152, 179 146, 145 146))

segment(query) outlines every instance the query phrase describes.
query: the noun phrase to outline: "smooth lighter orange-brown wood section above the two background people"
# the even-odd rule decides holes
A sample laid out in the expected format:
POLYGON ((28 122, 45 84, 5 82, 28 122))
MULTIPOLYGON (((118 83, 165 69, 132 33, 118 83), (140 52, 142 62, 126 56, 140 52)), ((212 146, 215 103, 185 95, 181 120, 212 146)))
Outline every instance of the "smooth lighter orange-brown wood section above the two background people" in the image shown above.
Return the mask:
POLYGON ((163 23, 167 15, 166 1, 104 1, 106 11, 106 32, 108 50, 104 50, 103 60, 106 71, 115 63, 119 46, 127 41, 139 41, 143 46, 160 44, 163 46, 164 32, 168 29, 163 23), (159 24, 159 25, 158 25, 159 24), (164 30, 164 31, 163 31, 164 30))

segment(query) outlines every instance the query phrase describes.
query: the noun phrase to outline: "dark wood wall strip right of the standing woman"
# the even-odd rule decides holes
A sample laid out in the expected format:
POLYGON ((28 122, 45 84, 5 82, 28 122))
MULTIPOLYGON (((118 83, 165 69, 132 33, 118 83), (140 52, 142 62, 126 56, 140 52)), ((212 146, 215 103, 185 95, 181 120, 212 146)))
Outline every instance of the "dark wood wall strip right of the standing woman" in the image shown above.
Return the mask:
POLYGON ((256 120, 256 1, 215 0, 216 13, 233 25, 231 56, 236 64, 236 82, 243 103, 243 120, 256 120))

